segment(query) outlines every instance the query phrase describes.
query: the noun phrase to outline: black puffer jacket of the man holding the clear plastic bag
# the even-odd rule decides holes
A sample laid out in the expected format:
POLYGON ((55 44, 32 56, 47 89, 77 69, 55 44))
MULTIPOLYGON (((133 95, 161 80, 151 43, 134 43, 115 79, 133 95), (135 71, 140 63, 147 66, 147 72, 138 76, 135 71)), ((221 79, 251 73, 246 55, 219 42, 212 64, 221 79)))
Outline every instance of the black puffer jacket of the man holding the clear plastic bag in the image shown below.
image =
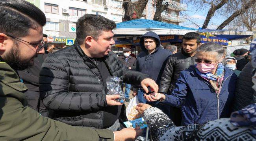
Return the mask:
MULTIPOLYGON (((111 75, 121 77, 124 83, 139 85, 149 78, 128 69, 112 51, 104 59, 111 75)), ((43 103, 54 112, 54 119, 73 126, 102 128, 107 107, 102 77, 77 42, 46 58, 39 84, 43 103)))

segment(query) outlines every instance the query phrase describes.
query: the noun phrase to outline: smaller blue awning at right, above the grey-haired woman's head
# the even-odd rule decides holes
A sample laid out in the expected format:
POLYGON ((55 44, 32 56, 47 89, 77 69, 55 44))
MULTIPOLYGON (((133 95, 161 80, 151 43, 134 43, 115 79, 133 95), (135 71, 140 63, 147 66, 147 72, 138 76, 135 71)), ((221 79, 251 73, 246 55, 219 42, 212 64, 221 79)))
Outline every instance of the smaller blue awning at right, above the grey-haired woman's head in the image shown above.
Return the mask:
POLYGON ((228 30, 213 30, 199 29, 199 33, 210 33, 216 37, 226 38, 228 40, 237 40, 248 38, 253 35, 253 31, 228 31, 228 30))

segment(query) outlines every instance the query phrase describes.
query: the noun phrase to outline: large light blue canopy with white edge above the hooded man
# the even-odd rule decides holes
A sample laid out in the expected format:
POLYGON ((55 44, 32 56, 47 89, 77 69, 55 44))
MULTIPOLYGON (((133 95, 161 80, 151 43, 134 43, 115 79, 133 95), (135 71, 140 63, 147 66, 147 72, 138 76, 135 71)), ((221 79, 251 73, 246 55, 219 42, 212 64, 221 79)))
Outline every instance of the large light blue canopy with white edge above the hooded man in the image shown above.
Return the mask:
POLYGON ((153 31, 158 35, 184 35, 189 32, 197 32, 198 29, 154 20, 137 19, 118 23, 117 28, 113 30, 115 36, 142 35, 148 31, 153 31))

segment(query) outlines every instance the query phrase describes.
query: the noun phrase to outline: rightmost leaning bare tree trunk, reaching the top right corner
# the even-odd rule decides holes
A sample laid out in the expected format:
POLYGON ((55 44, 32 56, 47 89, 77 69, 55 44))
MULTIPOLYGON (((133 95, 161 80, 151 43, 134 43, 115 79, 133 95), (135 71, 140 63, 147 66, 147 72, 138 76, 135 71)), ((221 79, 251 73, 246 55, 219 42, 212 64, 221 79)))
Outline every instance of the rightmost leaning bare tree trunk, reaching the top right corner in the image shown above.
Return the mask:
POLYGON ((221 25, 219 25, 219 27, 217 27, 217 29, 223 29, 232 20, 234 20, 234 18, 236 18, 237 16, 239 16, 242 13, 245 13, 245 11, 247 9, 249 9, 252 5, 254 5, 255 2, 256 2, 256 0, 250 0, 249 2, 247 2, 247 4, 245 4, 241 9, 237 10, 231 16, 229 16, 221 25))

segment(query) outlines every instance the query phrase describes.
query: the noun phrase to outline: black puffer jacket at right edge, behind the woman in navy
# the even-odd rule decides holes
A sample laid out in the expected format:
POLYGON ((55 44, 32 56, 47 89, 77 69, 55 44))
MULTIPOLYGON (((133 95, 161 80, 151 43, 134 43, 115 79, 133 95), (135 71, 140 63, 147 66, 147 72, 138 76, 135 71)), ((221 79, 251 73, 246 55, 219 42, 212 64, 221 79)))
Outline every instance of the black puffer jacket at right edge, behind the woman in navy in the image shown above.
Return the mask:
POLYGON ((241 108, 251 104, 254 99, 254 89, 252 86, 252 76, 254 75, 254 69, 252 64, 249 62, 241 71, 236 81, 236 91, 232 111, 241 110, 241 108))

